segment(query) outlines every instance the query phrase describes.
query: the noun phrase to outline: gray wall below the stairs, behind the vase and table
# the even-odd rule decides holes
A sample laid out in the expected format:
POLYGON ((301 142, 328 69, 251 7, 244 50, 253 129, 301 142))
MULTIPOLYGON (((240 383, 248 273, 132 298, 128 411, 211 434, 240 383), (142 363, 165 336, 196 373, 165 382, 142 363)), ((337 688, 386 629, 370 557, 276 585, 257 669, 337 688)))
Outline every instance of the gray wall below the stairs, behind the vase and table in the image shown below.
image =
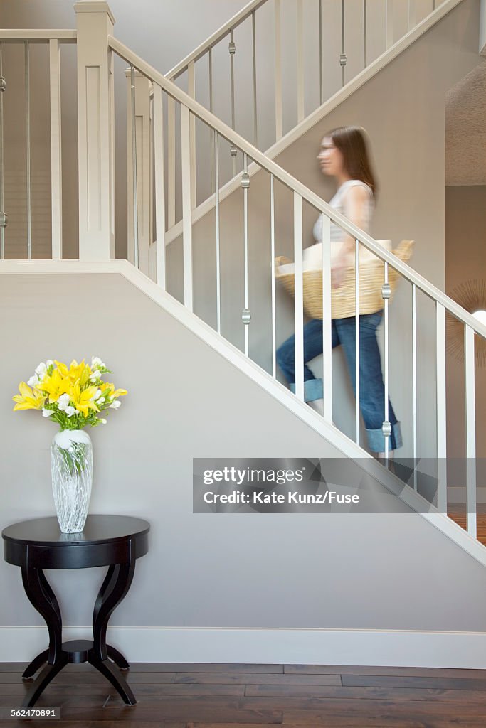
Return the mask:
MULTIPOLYGON (((99 355, 128 389, 90 430, 90 512, 152 526, 113 625, 486 629, 484 568, 420 515, 193 515, 193 457, 336 452, 122 277, 4 275, 0 307, 1 526, 53 513, 56 428, 12 412, 20 379, 40 360, 99 355)), ((64 623, 88 625, 103 570, 47 575, 64 623)), ((42 625, 4 561, 0 592, 2 627, 42 625)))

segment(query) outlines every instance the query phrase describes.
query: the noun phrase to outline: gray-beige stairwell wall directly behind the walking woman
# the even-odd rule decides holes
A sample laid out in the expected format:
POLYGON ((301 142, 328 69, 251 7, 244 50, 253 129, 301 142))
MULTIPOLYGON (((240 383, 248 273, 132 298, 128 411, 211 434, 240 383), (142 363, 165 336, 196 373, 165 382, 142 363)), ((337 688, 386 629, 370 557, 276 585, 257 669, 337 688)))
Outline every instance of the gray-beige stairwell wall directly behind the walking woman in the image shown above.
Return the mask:
MULTIPOLYGON (((359 124, 371 138, 380 182, 372 225, 376 238, 415 240, 411 265, 444 290, 444 97, 478 63, 479 3, 466 0, 431 28, 364 87, 345 100, 276 160, 317 194, 330 199, 332 182, 321 175, 315 156, 327 130, 359 124)), ((276 250, 293 257, 292 198, 276 184, 276 250)), ((270 182, 252 178, 249 190, 249 302, 251 356, 271 369, 270 182)), ((305 245, 317 214, 305 208, 305 245)), ((222 332, 243 349, 243 193, 222 203, 222 332)), ((216 266, 213 213, 196 223, 194 234, 195 311, 215 325, 216 266)), ((181 243, 169 249, 171 292, 181 298, 181 243)), ((411 290, 402 282, 390 313, 390 392, 402 423, 404 448, 412 455, 411 290)), ((294 331, 293 303, 278 294, 277 343, 294 331)), ((383 326, 381 327, 383 337, 383 326)), ((418 294, 418 455, 436 453, 435 310, 418 294)), ((355 435, 354 400, 341 352, 333 358, 337 425, 355 435)), ((315 364, 319 372, 320 365, 315 364)), ((362 440, 364 441, 364 440, 362 440)))

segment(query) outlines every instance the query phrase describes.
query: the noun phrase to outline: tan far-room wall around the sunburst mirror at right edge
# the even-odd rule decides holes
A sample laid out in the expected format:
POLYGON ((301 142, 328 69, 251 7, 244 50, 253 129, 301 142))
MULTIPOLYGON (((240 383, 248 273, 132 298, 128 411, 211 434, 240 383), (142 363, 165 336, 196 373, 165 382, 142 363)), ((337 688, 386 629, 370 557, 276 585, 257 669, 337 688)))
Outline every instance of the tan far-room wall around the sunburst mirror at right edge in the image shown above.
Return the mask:
MULTIPOLYGON (((469 280, 486 279, 486 186, 445 189, 445 292, 469 280)), ((461 301, 459 301, 461 303, 461 301)), ((486 301, 483 304, 486 307, 486 301)), ((486 368, 475 372, 477 457, 486 457, 486 368)), ((447 451, 464 457, 464 365, 447 357, 447 451)))

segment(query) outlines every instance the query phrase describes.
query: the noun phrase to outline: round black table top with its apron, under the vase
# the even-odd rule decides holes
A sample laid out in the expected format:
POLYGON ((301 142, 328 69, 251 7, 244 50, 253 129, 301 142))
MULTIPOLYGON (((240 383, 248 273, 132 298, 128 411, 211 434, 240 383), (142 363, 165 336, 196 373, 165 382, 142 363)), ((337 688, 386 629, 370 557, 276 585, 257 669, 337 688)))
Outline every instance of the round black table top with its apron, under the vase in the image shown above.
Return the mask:
POLYGON ((44 569, 83 569, 123 563, 147 553, 150 524, 130 515, 88 515, 79 534, 63 534, 58 519, 33 518, 7 526, 4 558, 23 566, 28 558, 32 566, 44 569))

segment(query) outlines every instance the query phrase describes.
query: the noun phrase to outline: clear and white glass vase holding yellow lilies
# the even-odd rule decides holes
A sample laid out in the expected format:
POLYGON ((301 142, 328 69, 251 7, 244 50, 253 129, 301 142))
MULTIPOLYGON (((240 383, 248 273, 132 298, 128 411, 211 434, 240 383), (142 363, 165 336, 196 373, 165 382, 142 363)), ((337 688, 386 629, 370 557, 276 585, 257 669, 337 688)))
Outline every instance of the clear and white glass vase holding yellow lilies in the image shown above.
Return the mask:
POLYGON ((61 430, 51 444, 52 493, 60 530, 85 527, 93 482, 93 443, 84 430, 61 430))

